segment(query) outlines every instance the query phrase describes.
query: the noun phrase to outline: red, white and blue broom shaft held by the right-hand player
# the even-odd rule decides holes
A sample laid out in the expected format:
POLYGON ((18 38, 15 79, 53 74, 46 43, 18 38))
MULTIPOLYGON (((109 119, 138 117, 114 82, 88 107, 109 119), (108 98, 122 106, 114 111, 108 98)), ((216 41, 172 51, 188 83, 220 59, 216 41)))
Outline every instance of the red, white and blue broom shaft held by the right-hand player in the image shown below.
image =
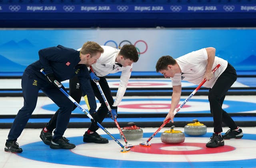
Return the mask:
MULTIPOLYGON (((212 73, 214 73, 218 68, 220 67, 220 64, 218 64, 213 70, 212 73)), ((200 87, 202 87, 202 85, 204 85, 204 83, 206 82, 206 79, 204 79, 199 85, 198 87, 196 87, 196 89, 183 101, 183 103, 180 105, 180 107, 178 107, 176 109, 176 111, 174 112, 174 115, 176 115, 178 113, 178 111, 180 111, 180 109, 191 99, 191 97, 200 89, 200 87)), ((146 143, 148 143, 167 123, 169 123, 170 119, 166 120, 157 130, 156 132, 154 132, 154 134, 152 134, 152 136, 150 136, 150 138, 148 138, 148 140, 146 141, 146 143)))

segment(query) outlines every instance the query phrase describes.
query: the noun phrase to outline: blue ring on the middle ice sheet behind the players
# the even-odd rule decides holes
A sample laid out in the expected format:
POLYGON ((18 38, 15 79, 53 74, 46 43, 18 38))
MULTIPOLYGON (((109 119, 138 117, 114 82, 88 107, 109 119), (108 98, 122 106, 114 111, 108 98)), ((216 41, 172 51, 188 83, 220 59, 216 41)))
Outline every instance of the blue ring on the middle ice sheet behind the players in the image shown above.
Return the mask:
MULTIPOLYGON (((185 99, 180 99, 180 102, 183 102, 185 99)), ((159 103, 161 101, 171 101, 171 99, 122 99, 122 101, 126 102, 126 101, 134 101, 134 102, 139 102, 139 101, 150 101, 150 103, 152 105, 154 105, 154 103, 159 103), (159 101, 159 102, 158 102, 159 101)), ((99 103, 99 101, 96 101, 97 103, 99 103)), ((208 99, 193 99, 193 97, 189 100, 189 102, 208 102, 208 99)), ((229 112, 229 113, 240 113, 240 112, 246 112, 246 111, 253 111, 256 109, 256 103, 250 103, 250 102, 244 102, 244 101, 230 101, 230 100, 225 100, 223 104, 228 105, 229 107, 224 109, 225 111, 229 112)), ((85 105, 85 102, 83 100, 81 100, 80 105, 85 105)), ((48 110, 48 111, 57 111, 58 110, 58 106, 55 105, 54 103, 52 104, 48 104, 48 105, 44 105, 42 106, 42 109, 48 110)), ((140 110, 140 109, 138 109, 140 110)), ((76 108, 72 113, 81 113, 83 114, 83 112, 76 108)), ((129 111, 119 111, 119 114, 122 113, 136 113, 136 112, 129 112, 129 111)), ((143 112, 140 112, 143 113, 143 112)), ((147 113, 147 112, 144 112, 147 113)), ((163 113, 167 113, 163 112, 163 113)), ((210 113, 210 109, 207 111, 187 111, 187 112, 182 112, 182 113, 210 113)))

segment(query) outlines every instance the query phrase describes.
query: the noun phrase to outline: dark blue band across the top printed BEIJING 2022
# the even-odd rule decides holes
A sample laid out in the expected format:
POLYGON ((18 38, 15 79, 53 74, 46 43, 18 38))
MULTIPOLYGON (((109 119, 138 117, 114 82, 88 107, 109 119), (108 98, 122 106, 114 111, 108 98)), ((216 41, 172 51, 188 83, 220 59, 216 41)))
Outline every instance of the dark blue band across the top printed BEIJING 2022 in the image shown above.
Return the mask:
POLYGON ((2 28, 255 27, 254 0, 18 1, 2 0, 2 28), (91 3, 91 2, 98 2, 91 3), (119 1, 118 1, 119 2, 119 1), (105 3, 105 4, 104 4, 105 3), (109 4, 106 4, 109 3, 109 4), (146 4, 149 3, 149 4, 146 4), (193 4, 194 3, 194 4, 193 4))

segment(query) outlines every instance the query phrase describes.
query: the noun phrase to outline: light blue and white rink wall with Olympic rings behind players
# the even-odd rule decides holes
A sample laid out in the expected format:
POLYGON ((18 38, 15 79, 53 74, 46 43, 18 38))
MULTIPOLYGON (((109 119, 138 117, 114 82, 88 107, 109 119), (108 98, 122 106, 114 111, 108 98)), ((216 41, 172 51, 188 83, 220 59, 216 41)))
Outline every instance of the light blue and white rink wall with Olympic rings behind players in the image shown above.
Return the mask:
POLYGON ((86 41, 122 47, 134 44, 140 59, 133 71, 155 71, 162 55, 177 58, 190 51, 215 47, 216 56, 238 71, 256 71, 256 29, 2 29, 0 73, 23 72, 38 60, 38 50, 58 44, 78 49, 86 41))

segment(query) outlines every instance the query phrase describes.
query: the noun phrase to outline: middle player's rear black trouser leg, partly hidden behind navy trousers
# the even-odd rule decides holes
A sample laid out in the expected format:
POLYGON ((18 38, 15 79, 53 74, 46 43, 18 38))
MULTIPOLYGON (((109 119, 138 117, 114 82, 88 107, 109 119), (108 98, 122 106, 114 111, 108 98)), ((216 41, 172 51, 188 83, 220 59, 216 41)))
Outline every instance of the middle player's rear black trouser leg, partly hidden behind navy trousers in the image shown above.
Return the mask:
MULTIPOLYGON (((82 97, 82 90, 80 88, 81 83, 78 79, 77 76, 72 77, 69 80, 69 95, 77 102, 80 103, 81 101, 81 97, 82 97)), ((76 109, 76 105, 74 105, 72 111, 74 111, 74 109, 76 109)), ((52 116, 52 118, 50 119, 49 123, 46 124, 46 128, 47 130, 51 131, 54 130, 56 128, 56 121, 58 118, 58 113, 59 113, 60 109, 58 109, 56 111, 56 113, 52 116)))

